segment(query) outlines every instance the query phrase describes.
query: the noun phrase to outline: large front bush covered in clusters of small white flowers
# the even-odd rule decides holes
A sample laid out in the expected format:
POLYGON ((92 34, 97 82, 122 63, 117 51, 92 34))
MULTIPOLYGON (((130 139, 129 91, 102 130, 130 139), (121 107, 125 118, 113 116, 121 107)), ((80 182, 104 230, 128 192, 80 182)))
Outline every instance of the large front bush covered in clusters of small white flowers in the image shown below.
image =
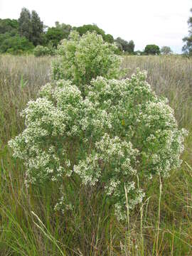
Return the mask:
MULTIPOLYGON (((78 44, 83 40, 77 38, 78 44)), ((71 48, 74 42, 70 41, 71 48)), ((81 75, 78 78, 81 82, 81 75)), ((124 188, 129 208, 134 208, 144 197, 143 181, 169 176, 180 166, 186 131, 178 129, 174 111, 151 90, 144 72, 125 80, 97 77, 84 92, 73 82, 53 80, 44 85, 40 97, 21 113, 26 129, 9 145, 14 156, 23 159, 26 184, 60 184, 56 209, 73 209, 63 180, 79 177, 88 190, 102 190, 117 218, 124 219, 124 188)))

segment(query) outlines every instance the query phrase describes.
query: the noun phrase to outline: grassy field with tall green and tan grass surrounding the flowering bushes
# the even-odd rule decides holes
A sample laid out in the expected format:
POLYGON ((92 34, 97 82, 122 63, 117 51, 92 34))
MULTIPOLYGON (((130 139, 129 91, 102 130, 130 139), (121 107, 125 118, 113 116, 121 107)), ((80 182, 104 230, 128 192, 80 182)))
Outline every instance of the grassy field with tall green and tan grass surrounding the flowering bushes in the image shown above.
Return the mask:
MULTIPOLYGON (((82 193, 72 213, 54 211, 58 187, 23 183, 21 161, 7 142, 22 131, 19 112, 50 80, 51 58, 0 56, 0 255, 191 255, 192 254, 192 59, 127 56, 127 77, 147 70, 148 82, 169 99, 179 127, 188 129, 181 169, 149 186, 127 222, 111 214, 102 193, 82 193)), ((71 192, 73 196, 73 191, 71 192)))

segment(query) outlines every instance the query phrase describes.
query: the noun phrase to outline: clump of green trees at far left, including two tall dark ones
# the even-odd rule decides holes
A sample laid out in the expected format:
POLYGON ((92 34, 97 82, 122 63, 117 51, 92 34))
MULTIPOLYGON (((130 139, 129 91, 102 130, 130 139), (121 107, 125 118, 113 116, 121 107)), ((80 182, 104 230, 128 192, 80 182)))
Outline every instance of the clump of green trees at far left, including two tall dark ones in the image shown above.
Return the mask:
POLYGON ((40 43, 43 43, 43 23, 36 11, 31 14, 23 8, 18 21, 0 19, 0 53, 32 52, 40 43))

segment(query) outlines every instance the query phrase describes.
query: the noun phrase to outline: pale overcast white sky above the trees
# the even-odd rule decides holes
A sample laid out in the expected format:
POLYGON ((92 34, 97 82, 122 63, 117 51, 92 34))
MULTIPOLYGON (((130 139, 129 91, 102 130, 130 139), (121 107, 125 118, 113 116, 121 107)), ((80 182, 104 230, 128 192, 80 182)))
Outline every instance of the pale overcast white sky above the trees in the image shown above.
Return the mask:
POLYGON ((156 44, 175 53, 181 53, 192 16, 192 0, 0 0, 0 18, 17 19, 23 7, 37 11, 47 26, 95 23, 114 38, 133 40, 135 50, 156 44))

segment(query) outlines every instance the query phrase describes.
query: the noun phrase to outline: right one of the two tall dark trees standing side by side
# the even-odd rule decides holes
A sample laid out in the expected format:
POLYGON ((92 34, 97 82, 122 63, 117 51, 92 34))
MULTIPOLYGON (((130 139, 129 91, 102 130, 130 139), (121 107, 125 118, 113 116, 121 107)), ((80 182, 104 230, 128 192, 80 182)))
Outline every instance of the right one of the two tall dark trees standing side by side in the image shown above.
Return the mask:
POLYGON ((31 42, 34 46, 37 46, 43 41, 43 21, 41 21, 36 11, 32 11, 31 13, 31 26, 31 42))

